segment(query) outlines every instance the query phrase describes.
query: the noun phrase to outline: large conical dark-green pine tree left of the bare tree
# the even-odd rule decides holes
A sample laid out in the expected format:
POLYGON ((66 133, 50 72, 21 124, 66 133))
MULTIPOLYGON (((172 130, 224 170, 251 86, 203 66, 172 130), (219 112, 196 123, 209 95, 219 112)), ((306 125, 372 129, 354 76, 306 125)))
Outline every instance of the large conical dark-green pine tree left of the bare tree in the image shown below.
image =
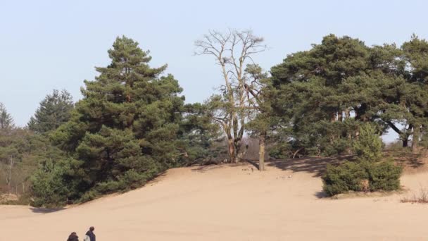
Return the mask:
POLYGON ((83 99, 52 139, 73 156, 80 196, 137 187, 186 160, 182 88, 166 66, 151 68, 148 51, 118 37, 108 51, 111 64, 84 81, 83 99), (92 193, 92 194, 91 194, 92 193))

